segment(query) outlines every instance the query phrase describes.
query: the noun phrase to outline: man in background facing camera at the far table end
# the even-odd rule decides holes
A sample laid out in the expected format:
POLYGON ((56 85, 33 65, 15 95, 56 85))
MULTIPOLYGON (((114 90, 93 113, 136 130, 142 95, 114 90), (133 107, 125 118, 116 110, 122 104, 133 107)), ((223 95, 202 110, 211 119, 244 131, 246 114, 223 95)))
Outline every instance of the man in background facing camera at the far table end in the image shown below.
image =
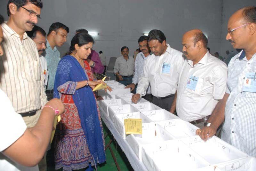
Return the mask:
POLYGON ((123 56, 116 59, 114 73, 117 75, 119 82, 125 86, 132 83, 134 71, 134 59, 129 54, 129 48, 124 46, 121 48, 123 56))

